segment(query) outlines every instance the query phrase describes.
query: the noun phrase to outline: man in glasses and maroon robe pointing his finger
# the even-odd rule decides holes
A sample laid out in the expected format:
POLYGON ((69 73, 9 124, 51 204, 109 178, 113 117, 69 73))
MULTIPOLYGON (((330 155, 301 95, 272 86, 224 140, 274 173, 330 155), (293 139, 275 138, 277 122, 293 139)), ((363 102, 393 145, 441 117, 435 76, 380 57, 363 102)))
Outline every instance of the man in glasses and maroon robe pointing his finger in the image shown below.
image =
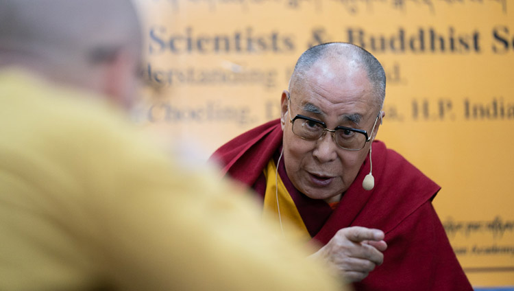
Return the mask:
POLYGON ((282 93, 280 119, 212 159, 256 191, 284 235, 320 244, 313 257, 356 290, 472 290, 432 207, 439 186, 375 140, 385 83, 360 47, 312 47, 282 93))

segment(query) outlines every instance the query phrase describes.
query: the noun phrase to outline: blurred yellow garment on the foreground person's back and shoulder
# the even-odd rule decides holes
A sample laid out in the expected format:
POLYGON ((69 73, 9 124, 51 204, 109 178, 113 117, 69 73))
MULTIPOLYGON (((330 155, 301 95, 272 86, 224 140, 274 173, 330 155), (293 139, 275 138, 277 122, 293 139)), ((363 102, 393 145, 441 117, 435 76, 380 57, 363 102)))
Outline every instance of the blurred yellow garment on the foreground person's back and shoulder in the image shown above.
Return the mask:
POLYGON ((0 72, 0 290, 341 290, 104 102, 0 72))

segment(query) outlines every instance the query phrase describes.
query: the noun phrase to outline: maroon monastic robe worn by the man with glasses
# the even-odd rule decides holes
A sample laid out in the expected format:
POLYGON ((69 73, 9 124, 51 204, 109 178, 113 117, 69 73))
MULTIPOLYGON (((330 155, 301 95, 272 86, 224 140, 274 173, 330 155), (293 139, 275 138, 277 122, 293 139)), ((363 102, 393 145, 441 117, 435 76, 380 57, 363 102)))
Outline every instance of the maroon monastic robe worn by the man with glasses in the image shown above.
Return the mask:
MULTIPOLYGON (((276 159, 281 146, 282 129, 277 119, 232 139, 212 159, 221 163, 224 175, 262 194, 263 169, 269 159, 276 159)), ((280 177, 313 240, 326 244, 348 226, 384 231, 388 245, 384 264, 354 283, 356 290, 472 290, 432 207, 440 187, 384 143, 373 143, 374 189, 365 191, 362 187, 369 173, 366 160, 334 211, 325 202, 294 189, 283 165, 278 169, 280 177)))

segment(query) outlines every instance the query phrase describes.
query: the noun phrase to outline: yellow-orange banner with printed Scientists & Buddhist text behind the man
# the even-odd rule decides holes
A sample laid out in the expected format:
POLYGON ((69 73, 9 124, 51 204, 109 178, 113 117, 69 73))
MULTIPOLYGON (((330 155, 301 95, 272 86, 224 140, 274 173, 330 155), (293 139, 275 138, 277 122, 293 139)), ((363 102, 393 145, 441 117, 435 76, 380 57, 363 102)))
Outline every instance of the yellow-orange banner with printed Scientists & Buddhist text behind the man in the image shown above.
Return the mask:
POLYGON ((378 139, 443 189, 435 207, 474 286, 514 286, 514 3, 139 0, 138 117, 206 159, 280 115, 305 49, 345 41, 387 72, 378 139))

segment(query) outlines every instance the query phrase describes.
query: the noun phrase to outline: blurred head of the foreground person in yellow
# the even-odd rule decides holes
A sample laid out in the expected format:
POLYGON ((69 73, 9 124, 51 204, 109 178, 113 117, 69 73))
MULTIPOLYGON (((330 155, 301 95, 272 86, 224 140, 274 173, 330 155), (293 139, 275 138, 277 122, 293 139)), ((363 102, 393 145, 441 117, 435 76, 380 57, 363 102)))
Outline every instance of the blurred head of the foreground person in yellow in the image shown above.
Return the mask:
POLYGON ((0 0, 0 69, 23 67, 124 107, 141 38, 130 0, 0 0))

